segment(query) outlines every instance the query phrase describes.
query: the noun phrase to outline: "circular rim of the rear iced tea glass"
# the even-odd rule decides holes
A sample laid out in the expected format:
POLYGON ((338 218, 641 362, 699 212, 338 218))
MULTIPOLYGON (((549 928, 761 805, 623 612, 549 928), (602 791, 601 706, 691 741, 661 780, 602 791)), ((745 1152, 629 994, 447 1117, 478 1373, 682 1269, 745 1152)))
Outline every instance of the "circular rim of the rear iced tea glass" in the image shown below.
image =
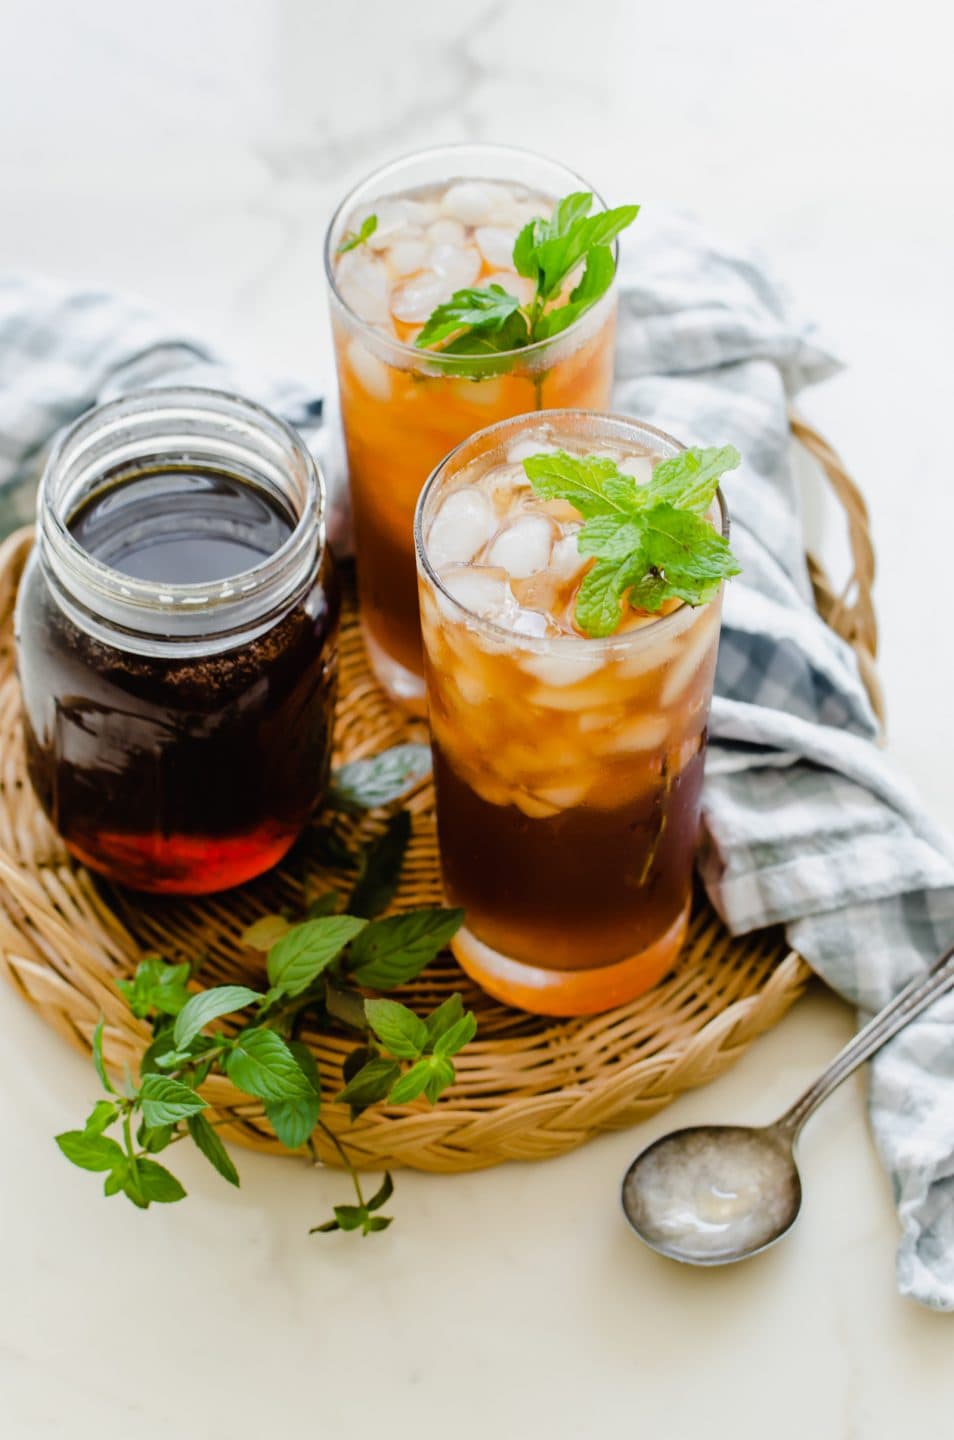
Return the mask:
MULTIPOLYGON (((556 168, 562 170, 569 179, 575 180, 582 190, 589 192, 597 204, 599 204, 604 210, 608 209, 607 202, 602 199, 597 187, 591 186, 589 181, 585 180, 575 170, 572 170, 571 166, 565 166, 562 160, 553 160, 550 156, 543 156, 538 150, 527 150, 523 145, 496 145, 491 141, 487 143, 460 141, 450 145, 425 145, 424 150, 411 150, 406 154, 398 156, 395 160, 386 161, 386 164, 383 166, 378 166, 375 170, 366 174, 363 180, 359 180, 357 184, 352 186, 344 199, 340 200, 339 204, 334 207, 334 213, 331 215, 327 230, 324 233, 324 275, 329 284, 329 289, 331 291, 336 304, 339 304, 344 311, 344 314, 347 315, 350 324, 363 336, 370 336, 376 344, 388 350, 392 350, 395 354, 404 356, 405 359, 414 359, 418 364, 421 364, 422 361, 431 364, 435 363, 440 369, 444 369, 451 363, 460 366, 461 360, 465 360, 468 357, 444 356, 441 350, 425 350, 406 340, 398 340, 395 336, 385 334, 382 330, 378 330, 375 325, 372 325, 370 321, 362 320, 360 315, 355 314, 352 307, 342 295, 334 278, 334 255, 331 253, 331 235, 334 233, 334 228, 339 219, 355 204, 359 193, 373 180, 388 176, 392 170, 399 170, 402 166, 406 166, 408 161, 411 160, 429 160, 429 158, 438 158, 441 156, 461 154, 463 151, 471 151, 471 153, 487 151, 489 154, 499 154, 499 156, 520 156, 525 160, 536 160, 548 166, 555 166, 556 168)), ((493 177, 486 176, 484 179, 490 180, 493 177)), ((499 183, 503 184, 506 181, 499 181, 499 183)), ((612 288, 617 282, 618 269, 620 269, 620 239, 617 236, 617 239, 614 239, 612 242, 612 281, 610 282, 604 295, 601 295, 599 300, 589 307, 589 310, 585 310, 582 315, 578 315, 578 318, 572 323, 572 325, 566 325, 566 328, 561 330, 558 334, 548 336, 545 340, 535 340, 532 344, 522 346, 517 350, 494 350, 493 353, 494 363, 499 360, 506 361, 506 360, 517 360, 520 357, 526 359, 539 356, 548 347, 552 348, 555 344, 563 341, 568 336, 575 334, 576 330, 582 324, 585 324, 587 320, 592 318, 592 314, 599 308, 601 301, 605 300, 607 295, 612 294, 612 288)), ((471 359, 480 360, 481 356, 473 356, 471 359)))

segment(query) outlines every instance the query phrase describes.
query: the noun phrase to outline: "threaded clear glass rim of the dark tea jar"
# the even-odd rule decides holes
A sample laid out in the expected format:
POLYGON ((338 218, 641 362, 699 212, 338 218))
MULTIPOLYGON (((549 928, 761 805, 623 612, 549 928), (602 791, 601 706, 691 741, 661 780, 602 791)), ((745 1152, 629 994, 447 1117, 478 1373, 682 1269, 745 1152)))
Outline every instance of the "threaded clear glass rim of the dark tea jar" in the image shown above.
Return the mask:
MULTIPOLYGON (((108 456, 104 461, 105 465, 108 465, 108 456)), ((128 395, 85 410, 56 438, 43 467, 36 507, 37 534, 50 544, 58 560, 75 567, 91 589, 146 613, 186 611, 197 613, 202 611, 213 615, 236 602, 251 600, 255 595, 268 590, 271 585, 281 582, 307 550, 313 531, 317 533, 318 566, 327 549, 324 477, 304 439, 291 425, 264 405, 212 386, 144 387, 130 390, 128 395), (235 420, 245 420, 259 433, 271 432, 275 435, 277 432, 303 465, 304 495, 291 534, 272 554, 265 556, 246 570, 238 570, 220 580, 192 583, 141 580, 105 564, 73 537, 66 523, 68 517, 61 513, 61 507, 50 494, 58 472, 69 474, 71 467, 81 459, 84 449, 102 438, 111 425, 118 429, 122 422, 148 415, 150 410, 171 415, 177 409, 186 413, 192 412, 193 416, 205 415, 210 422, 228 420, 231 416, 235 420)))

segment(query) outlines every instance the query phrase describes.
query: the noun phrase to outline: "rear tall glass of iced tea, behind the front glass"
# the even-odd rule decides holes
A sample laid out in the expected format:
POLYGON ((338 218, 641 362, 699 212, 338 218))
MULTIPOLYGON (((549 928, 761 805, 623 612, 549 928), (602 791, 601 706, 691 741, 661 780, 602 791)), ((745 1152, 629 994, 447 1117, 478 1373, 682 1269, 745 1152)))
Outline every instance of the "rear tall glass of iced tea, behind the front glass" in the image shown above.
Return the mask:
MULTIPOLYGON (((500 348, 503 330, 489 354, 461 354, 460 340, 455 350, 415 340, 434 310, 467 288, 499 287, 532 307, 536 287, 514 268, 516 238, 529 220, 548 220, 558 199, 581 193, 592 196, 594 215, 607 215, 561 164, 507 147, 450 145, 378 170, 342 202, 327 233, 365 641, 379 681, 411 711, 425 703, 412 536, 421 487, 450 449, 494 420, 605 409, 615 287, 608 279, 566 328, 512 350, 500 348)), ((604 249, 614 269, 615 242, 604 249)), ((581 268, 550 305, 569 302, 581 268)))

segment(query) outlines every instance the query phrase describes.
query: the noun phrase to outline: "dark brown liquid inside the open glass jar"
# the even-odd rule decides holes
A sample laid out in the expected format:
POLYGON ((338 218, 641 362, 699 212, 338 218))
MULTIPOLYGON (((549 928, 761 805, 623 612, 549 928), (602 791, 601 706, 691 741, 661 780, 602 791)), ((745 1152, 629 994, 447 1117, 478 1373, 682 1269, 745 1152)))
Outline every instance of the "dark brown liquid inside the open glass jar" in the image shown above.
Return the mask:
MULTIPOLYGON (((295 517, 245 475, 153 464, 104 477, 66 527, 122 576, 241 586, 295 517)), ((72 854, 122 884, 190 894, 281 860, 327 780, 337 625, 324 550, 251 638, 143 654, 86 629, 35 556, 19 611, 27 768, 72 854)))

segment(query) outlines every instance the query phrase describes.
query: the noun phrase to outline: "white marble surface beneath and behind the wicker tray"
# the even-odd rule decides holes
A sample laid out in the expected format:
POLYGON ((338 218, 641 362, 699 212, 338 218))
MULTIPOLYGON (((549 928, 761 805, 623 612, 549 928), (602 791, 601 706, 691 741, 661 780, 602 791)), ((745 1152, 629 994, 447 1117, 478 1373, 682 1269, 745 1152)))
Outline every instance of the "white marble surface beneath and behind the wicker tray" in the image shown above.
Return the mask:
MULTIPOLYGON (((0 0, 0 266, 138 291, 320 380, 329 207, 424 143, 550 151, 615 202, 687 206, 757 242, 849 364, 804 410, 872 504, 892 752, 954 822, 940 24, 931 0, 0 0)), ((543 1166, 401 1176, 398 1224, 353 1243, 306 1236, 340 1178, 257 1156, 241 1192, 183 1156, 186 1204, 107 1205, 49 1139, 92 1096, 88 1067, 9 991, 0 1015, 10 1437, 950 1427, 951 1320, 893 1293, 860 1081, 806 1138, 804 1220, 777 1251, 687 1273, 618 1215, 648 1139, 768 1117, 810 1079, 850 1034, 832 996, 634 1132, 543 1166)))

